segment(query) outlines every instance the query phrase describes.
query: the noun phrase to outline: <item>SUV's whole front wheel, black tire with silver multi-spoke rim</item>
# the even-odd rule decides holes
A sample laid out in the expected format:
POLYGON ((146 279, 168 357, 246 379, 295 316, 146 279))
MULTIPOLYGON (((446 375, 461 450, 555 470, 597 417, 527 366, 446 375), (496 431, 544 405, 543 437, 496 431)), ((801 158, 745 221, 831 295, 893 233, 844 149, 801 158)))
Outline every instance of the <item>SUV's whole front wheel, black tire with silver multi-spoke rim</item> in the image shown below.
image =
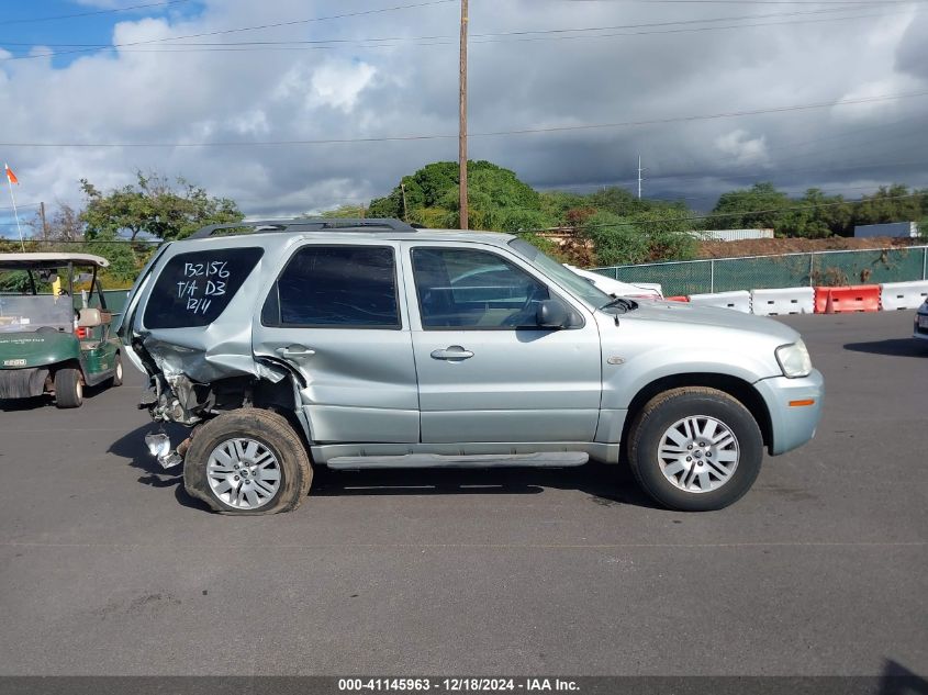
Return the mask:
POLYGON ((708 512, 734 504, 757 480, 762 460, 763 437, 753 416, 715 389, 661 393, 628 431, 635 480, 671 509, 708 512))

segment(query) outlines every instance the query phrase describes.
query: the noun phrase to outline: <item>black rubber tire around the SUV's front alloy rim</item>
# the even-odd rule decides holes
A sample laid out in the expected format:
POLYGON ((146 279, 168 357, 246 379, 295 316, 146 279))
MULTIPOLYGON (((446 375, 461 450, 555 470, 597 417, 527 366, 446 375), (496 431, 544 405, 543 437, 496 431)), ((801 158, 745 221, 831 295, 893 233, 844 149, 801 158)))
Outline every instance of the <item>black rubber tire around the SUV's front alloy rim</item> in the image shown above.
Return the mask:
MULTIPOLYGON (((700 449, 700 444, 703 441, 695 442, 696 449, 700 449)), ((718 461, 718 450, 712 450, 718 461)), ((734 504, 757 480, 762 460, 763 436, 753 416, 738 400, 715 389, 690 386, 661 393, 645 405, 628 430, 628 462, 635 480, 651 498, 671 509, 708 512, 734 504), (698 470, 705 472, 705 479, 697 477, 692 468, 689 469, 691 472, 681 471, 679 478, 671 474, 674 466, 692 467, 692 463, 682 463, 689 451, 682 451, 679 464, 659 456, 661 442, 671 427, 684 418, 701 416, 718 421, 735 437, 735 444, 729 448, 737 447, 734 472, 715 489, 712 485, 719 483, 723 477, 709 458, 703 458, 704 451, 709 451, 712 456, 711 448, 700 450, 698 455, 693 452, 694 457, 700 457, 702 468, 698 470), (664 470, 678 482, 671 482, 664 470), (692 480, 689 480, 691 474, 692 480), (695 485, 697 480, 700 484, 703 480, 711 481, 707 491, 691 492, 680 486, 681 483, 684 486, 695 485)))

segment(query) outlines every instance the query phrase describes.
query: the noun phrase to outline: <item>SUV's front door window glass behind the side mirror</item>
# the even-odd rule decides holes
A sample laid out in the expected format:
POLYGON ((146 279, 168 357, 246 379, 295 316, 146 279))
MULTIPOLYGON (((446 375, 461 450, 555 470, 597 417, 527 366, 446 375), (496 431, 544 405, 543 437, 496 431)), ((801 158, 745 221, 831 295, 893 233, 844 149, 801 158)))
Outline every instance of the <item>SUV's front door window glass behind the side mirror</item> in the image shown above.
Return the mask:
POLYGON ((488 251, 414 248, 413 273, 425 329, 537 328, 548 288, 488 251))

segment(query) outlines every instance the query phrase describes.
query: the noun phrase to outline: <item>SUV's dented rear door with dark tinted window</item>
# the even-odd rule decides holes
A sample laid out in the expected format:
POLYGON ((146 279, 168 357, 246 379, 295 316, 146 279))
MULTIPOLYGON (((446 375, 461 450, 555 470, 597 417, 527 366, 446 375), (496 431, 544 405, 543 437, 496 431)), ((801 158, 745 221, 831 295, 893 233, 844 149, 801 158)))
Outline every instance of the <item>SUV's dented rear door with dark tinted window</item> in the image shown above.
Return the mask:
POLYGON ((398 253, 396 243, 377 239, 298 246, 255 320, 255 355, 282 359, 303 377, 316 442, 420 439, 398 253))

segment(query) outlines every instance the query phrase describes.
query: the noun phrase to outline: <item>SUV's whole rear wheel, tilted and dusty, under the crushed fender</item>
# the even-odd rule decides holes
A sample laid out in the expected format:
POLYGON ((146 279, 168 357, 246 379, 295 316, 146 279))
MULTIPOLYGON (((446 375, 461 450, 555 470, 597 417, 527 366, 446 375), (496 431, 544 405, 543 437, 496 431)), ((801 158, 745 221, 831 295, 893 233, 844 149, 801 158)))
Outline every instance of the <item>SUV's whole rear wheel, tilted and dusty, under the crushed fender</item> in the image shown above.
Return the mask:
POLYGON ((223 413, 197 429, 183 460, 183 485, 221 514, 290 512, 310 490, 303 441, 284 417, 261 408, 223 413))

